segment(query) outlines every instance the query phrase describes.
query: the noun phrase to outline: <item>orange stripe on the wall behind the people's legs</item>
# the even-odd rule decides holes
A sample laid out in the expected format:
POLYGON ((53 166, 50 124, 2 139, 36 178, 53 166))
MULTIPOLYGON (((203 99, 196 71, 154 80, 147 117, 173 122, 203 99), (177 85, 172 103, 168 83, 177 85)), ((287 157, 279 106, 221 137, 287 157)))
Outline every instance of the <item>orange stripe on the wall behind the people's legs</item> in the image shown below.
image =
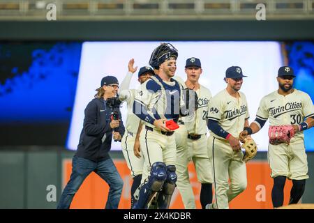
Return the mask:
MULTIPOLYGON (((128 169, 124 160, 114 160, 121 178, 124 180, 124 190, 122 191, 119 208, 130 208, 130 187, 132 184, 132 178, 130 176, 130 170, 128 169)), ((273 179, 270 177, 270 169, 267 162, 248 162, 246 164, 248 187, 230 202, 230 208, 272 208, 271 203, 271 188, 273 186, 273 179)), ((72 160, 63 160, 63 188, 70 179, 72 171, 72 160)), ((188 171, 190 175, 190 183, 195 194, 195 202, 197 208, 201 208, 200 205, 200 183, 197 182, 197 176, 195 168, 190 162, 188 164, 188 171)), ((290 197, 290 190, 292 187, 291 180, 287 180, 285 185, 285 204, 288 203, 290 197)), ((97 174, 90 174, 82 183, 80 190, 77 191, 70 208, 81 209, 102 209, 105 208, 107 201, 109 187, 105 181, 97 174)), ((182 203, 179 190, 174 191, 172 196, 172 202, 170 208, 182 209, 184 204, 182 203)))

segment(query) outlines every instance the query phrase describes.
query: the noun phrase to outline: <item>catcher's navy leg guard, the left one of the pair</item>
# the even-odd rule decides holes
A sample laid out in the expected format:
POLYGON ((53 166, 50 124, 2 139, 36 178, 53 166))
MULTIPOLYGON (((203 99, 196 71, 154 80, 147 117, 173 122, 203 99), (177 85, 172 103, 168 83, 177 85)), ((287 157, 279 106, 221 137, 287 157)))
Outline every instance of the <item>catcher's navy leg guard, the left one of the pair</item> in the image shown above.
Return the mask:
POLYGON ((144 183, 140 189, 140 195, 137 203, 134 204, 133 209, 147 208, 147 204, 158 192, 167 178, 167 167, 163 162, 155 162, 151 166, 151 174, 147 183, 144 183))

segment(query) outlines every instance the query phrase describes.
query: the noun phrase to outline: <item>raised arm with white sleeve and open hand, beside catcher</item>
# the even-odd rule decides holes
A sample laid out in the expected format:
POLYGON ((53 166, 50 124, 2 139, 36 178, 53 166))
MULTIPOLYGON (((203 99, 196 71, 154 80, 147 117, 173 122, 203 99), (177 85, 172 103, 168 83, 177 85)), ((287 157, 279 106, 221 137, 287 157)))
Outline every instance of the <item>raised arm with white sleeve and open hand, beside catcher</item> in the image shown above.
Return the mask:
POLYGON ((130 59, 128 61, 128 72, 126 73, 126 77, 124 77, 124 80, 121 82, 118 90, 119 99, 123 102, 130 98, 130 81, 132 79, 133 73, 136 72, 137 67, 133 68, 134 66, 134 59, 130 59))

